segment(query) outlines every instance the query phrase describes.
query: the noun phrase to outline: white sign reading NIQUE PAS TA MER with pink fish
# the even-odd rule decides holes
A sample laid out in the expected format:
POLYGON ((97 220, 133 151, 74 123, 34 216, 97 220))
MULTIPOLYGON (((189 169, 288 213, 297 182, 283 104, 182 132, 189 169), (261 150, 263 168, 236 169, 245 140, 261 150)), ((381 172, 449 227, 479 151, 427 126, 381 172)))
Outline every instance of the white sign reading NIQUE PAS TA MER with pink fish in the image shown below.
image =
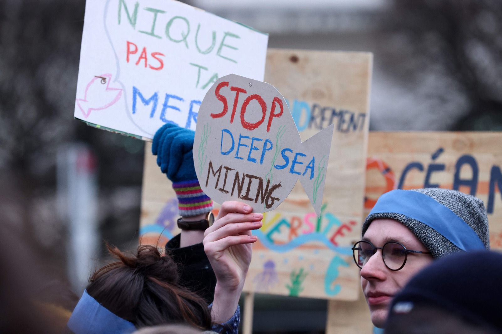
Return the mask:
POLYGON ((263 80, 268 35, 174 0, 87 0, 75 118, 152 138, 195 129, 219 77, 263 80))

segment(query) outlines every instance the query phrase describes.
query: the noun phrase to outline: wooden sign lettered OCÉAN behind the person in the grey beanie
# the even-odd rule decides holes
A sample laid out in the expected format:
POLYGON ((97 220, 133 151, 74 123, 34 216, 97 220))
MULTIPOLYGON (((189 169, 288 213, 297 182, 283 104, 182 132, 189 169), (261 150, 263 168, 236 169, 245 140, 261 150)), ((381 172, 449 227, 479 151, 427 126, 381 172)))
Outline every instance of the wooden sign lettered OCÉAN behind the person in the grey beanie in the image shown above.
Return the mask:
MULTIPOLYGON (((502 133, 495 132, 370 132, 365 215, 380 195, 393 189, 455 189, 484 202, 490 247, 502 249, 500 147, 502 133)), ((344 305, 329 303, 327 332, 371 333, 364 298, 349 306, 354 310, 349 314, 343 313, 344 305)))

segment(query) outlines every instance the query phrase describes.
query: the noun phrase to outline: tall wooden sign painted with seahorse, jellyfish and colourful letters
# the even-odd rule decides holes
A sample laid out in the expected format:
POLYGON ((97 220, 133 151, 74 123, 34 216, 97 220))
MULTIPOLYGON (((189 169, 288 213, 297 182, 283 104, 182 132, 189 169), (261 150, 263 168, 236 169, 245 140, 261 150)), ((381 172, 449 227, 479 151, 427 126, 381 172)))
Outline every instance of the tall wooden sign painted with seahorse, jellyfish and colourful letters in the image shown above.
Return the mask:
MULTIPOLYGON (((300 183, 276 210, 265 213, 263 227, 255 231, 259 238, 244 290, 357 299, 359 273, 351 265, 350 247, 359 238, 363 214, 371 62, 368 53, 268 51, 265 82, 284 96, 301 140, 330 124, 334 132, 321 214, 300 183)), ((163 246, 179 232, 176 196, 150 144, 141 218, 142 243, 163 246)))

